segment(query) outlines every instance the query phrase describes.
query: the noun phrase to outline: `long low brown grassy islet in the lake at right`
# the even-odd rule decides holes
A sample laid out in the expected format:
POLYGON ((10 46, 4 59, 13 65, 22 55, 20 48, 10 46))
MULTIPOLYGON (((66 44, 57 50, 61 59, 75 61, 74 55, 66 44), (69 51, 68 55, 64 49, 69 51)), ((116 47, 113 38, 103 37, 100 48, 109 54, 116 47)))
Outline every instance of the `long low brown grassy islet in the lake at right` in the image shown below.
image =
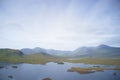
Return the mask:
POLYGON ((71 69, 68 69, 68 72, 78 72, 80 74, 87 74, 87 73, 94 73, 98 71, 104 71, 104 70, 120 70, 116 68, 98 68, 98 67, 91 67, 91 68, 79 68, 79 67, 72 67, 71 69))

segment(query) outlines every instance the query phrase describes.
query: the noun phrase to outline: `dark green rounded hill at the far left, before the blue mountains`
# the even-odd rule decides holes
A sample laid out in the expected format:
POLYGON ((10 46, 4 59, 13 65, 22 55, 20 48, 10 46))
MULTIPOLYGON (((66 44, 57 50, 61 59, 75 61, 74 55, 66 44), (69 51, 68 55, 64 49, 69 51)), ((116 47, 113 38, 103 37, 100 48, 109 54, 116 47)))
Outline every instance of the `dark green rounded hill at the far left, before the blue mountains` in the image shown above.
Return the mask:
POLYGON ((23 52, 16 49, 8 49, 8 48, 0 49, 0 56, 12 56, 12 55, 21 56, 23 55, 23 52))

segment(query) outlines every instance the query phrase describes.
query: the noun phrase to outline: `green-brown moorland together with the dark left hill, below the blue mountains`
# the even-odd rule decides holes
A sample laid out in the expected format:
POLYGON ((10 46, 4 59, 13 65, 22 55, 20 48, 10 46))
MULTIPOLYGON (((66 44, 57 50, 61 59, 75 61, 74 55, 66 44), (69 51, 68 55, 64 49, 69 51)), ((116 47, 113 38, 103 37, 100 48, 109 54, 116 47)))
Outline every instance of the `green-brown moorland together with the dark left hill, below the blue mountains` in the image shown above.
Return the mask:
POLYGON ((120 58, 84 57, 71 59, 67 57, 44 55, 41 53, 24 55, 21 51, 14 49, 0 49, 0 62, 31 64, 45 64, 47 62, 57 62, 58 64, 64 64, 64 62, 71 62, 120 66, 120 58))

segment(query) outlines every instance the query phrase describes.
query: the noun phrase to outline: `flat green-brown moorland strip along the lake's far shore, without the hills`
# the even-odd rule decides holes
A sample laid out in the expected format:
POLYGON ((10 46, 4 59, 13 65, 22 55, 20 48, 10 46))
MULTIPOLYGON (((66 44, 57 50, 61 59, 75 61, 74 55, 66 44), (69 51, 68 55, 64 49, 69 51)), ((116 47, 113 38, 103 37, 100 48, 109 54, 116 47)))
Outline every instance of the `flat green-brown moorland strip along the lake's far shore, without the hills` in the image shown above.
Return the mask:
POLYGON ((71 60, 69 58, 46 56, 42 54, 32 54, 23 56, 2 56, 0 55, 0 62, 10 63, 31 63, 31 64, 45 64, 47 62, 57 62, 63 64, 63 62, 71 63, 86 63, 86 64, 104 64, 104 65, 116 65, 120 66, 120 59, 112 58, 79 58, 71 60))

